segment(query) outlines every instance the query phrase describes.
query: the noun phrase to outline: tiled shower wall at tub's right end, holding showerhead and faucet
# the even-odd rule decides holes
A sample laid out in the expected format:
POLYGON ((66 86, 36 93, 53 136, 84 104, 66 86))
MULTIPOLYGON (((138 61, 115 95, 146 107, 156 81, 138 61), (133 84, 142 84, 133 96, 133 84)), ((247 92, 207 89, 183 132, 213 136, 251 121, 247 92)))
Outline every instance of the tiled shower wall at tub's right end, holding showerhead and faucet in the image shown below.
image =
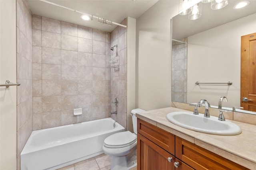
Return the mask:
MULTIPOLYGON (((127 25, 127 18, 121 22, 127 25)), ((117 53, 120 59, 120 70, 114 72, 111 69, 111 101, 118 98, 119 105, 111 104, 111 111, 117 111, 111 117, 127 129, 127 29, 121 26, 116 27, 111 32, 111 47, 118 45, 117 53)), ((109 49, 108 49, 109 50, 109 49)), ((111 51, 111 57, 116 56, 115 51, 111 51)), ((134 66, 135 69, 135 66, 134 66)), ((135 100, 135 99, 134 99, 135 100)))

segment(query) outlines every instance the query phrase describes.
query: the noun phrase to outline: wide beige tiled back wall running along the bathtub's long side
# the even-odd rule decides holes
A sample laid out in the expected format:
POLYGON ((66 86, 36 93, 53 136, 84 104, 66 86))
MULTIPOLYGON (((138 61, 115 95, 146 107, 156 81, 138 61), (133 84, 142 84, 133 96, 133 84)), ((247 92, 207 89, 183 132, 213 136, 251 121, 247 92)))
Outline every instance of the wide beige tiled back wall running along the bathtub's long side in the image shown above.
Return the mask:
POLYGON ((108 32, 32 16, 33 130, 110 117, 109 49, 108 32))

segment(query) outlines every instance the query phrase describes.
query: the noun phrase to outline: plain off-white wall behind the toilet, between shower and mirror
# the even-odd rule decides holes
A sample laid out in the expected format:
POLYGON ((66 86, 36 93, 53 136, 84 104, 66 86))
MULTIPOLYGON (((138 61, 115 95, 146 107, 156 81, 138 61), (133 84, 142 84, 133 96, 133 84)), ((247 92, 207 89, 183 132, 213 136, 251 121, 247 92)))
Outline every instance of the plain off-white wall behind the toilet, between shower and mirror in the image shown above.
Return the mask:
POLYGON ((171 106, 170 19, 178 0, 160 0, 136 22, 136 107, 171 106))

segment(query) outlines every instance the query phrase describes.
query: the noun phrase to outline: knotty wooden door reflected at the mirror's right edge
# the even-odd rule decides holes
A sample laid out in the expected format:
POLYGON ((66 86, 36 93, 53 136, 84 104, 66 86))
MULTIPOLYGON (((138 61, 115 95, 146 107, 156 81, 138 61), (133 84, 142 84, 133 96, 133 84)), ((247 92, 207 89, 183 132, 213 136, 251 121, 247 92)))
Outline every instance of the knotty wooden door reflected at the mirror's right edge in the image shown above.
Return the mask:
POLYGON ((256 111, 256 33, 241 37, 240 102, 245 110, 256 111))

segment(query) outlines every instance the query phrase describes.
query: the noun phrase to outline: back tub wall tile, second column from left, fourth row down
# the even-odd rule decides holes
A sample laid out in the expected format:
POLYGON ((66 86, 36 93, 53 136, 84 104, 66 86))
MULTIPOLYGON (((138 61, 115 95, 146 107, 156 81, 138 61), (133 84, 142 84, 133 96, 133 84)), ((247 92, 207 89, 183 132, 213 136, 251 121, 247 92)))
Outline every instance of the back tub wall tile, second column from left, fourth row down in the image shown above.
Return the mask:
POLYGON ((60 80, 61 66, 57 64, 42 64, 42 80, 60 80))

